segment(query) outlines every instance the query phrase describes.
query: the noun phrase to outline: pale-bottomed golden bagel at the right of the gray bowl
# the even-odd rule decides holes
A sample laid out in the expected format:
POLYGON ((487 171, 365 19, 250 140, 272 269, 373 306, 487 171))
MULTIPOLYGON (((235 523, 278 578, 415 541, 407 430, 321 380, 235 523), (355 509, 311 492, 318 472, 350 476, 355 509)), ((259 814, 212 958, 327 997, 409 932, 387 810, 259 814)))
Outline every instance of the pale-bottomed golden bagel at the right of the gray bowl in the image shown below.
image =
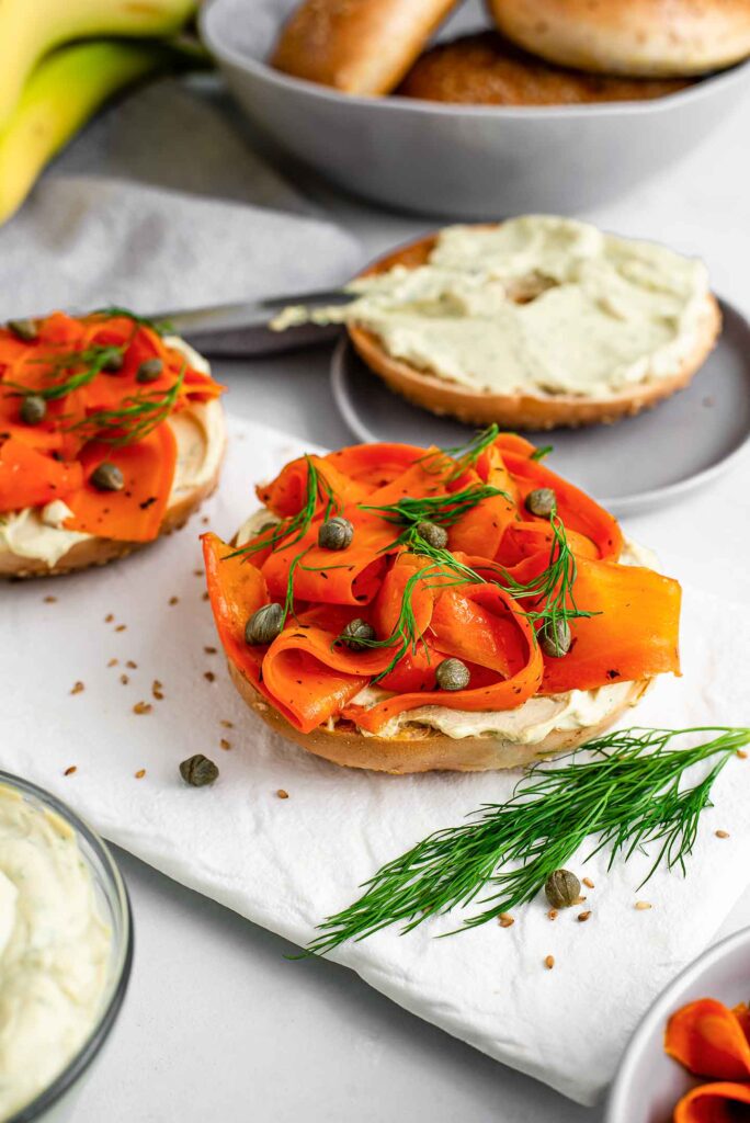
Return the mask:
POLYGON ((750 55, 748 0, 487 0, 497 28, 548 62, 600 74, 705 74, 750 55))

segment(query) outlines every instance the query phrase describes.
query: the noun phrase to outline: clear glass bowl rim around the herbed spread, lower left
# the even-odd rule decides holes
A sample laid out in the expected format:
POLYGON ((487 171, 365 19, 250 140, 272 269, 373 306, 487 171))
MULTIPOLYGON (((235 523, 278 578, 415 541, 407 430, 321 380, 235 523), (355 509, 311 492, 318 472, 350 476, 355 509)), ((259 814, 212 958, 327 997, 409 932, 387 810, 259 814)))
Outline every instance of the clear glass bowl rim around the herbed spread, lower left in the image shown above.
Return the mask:
POLYGON ((75 1120, 77 1095, 91 1066, 101 1054, 128 988, 132 966, 130 902, 125 882, 106 843, 70 807, 44 788, 10 773, 0 770, 0 785, 13 788, 33 807, 52 811, 73 829, 81 856, 93 879, 101 915, 112 933, 107 987, 91 1033, 52 1084, 7 1120, 7 1123, 72 1123, 75 1120))

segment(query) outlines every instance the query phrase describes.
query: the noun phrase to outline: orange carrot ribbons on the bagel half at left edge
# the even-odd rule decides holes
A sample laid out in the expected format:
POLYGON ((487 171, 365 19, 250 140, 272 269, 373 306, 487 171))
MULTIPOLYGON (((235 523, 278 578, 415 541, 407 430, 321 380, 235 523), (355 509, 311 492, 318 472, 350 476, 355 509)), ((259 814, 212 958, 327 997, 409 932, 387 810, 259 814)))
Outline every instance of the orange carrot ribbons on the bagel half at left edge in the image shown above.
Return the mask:
POLYGON ((120 310, 53 312, 21 330, 1 328, 0 517, 62 500, 68 530, 149 541, 176 466, 165 422, 220 392, 152 326, 120 310), (91 482, 103 462, 121 472, 120 490, 91 482))

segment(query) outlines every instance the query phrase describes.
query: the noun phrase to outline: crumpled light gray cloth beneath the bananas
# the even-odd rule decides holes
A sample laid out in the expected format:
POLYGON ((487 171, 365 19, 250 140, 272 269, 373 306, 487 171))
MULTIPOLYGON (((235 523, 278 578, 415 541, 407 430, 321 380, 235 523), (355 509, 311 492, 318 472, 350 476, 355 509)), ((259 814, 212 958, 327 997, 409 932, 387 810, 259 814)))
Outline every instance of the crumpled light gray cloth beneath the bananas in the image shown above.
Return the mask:
POLYGON ((360 262, 210 86, 170 79, 97 120, 0 230, 0 317, 283 294, 341 283, 360 262))

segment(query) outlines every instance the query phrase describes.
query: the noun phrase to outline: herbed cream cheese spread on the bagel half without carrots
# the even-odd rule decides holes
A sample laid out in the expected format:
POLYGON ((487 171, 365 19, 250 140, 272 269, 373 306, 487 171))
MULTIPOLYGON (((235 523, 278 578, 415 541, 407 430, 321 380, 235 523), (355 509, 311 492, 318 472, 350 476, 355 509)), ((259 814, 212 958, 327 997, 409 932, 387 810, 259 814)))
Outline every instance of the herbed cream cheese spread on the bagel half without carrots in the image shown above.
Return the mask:
POLYGON ((473 391, 606 399, 676 374, 699 338, 705 266, 585 222, 528 214, 442 230, 427 264, 359 277, 346 305, 289 309, 372 331, 473 391))

